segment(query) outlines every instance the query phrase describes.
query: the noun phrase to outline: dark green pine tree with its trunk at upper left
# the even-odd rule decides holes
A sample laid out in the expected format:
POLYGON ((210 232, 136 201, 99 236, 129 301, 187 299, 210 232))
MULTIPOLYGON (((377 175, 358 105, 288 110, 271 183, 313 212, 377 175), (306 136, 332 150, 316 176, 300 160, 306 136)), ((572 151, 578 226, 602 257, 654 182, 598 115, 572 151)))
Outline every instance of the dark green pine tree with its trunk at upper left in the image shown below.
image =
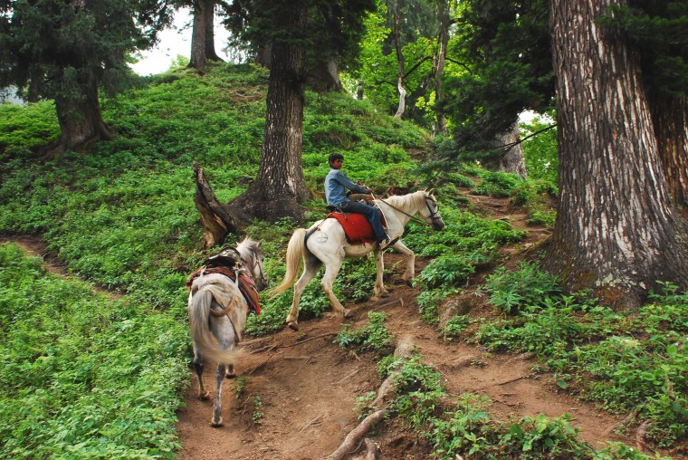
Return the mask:
POLYGON ((0 84, 31 101, 55 101, 61 137, 45 159, 110 139, 99 90, 119 91, 129 53, 151 46, 169 19, 157 0, 5 0, 0 3, 0 84))

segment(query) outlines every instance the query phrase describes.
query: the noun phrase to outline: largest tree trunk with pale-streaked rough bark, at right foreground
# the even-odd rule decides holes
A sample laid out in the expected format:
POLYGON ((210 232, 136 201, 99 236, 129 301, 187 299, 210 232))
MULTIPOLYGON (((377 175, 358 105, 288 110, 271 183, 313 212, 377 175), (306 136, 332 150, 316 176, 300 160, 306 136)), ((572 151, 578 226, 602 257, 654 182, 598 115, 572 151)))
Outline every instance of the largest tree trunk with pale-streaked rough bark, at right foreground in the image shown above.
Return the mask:
POLYGON ((635 307, 658 280, 688 288, 688 238, 666 187, 639 60, 622 34, 595 24, 610 1, 550 3, 560 196, 543 266, 569 290, 635 307))

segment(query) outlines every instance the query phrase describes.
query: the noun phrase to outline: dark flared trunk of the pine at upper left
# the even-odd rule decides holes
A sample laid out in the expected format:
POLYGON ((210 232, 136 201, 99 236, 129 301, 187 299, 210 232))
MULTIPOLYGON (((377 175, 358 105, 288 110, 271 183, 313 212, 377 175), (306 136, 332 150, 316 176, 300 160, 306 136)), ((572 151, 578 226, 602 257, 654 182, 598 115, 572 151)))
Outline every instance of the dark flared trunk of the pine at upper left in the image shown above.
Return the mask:
POLYGON ((77 76, 75 86, 81 88, 83 97, 55 98, 55 111, 60 124, 61 135, 56 146, 44 151, 43 160, 48 161, 62 155, 66 149, 79 151, 87 149, 98 140, 112 139, 112 132, 102 120, 98 101, 98 82, 93 72, 77 76))

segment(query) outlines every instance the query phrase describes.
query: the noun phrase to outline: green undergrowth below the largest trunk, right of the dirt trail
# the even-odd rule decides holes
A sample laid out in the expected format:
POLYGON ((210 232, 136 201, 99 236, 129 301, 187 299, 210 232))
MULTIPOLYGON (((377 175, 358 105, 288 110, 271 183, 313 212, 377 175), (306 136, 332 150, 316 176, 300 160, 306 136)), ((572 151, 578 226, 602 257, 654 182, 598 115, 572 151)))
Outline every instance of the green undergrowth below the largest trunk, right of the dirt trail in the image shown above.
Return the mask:
POLYGON ((535 352, 555 372, 559 387, 573 385, 608 410, 638 410, 640 419, 650 421, 647 436, 658 446, 683 439, 688 295, 667 285, 665 295, 654 294, 654 302, 634 315, 597 306, 582 293, 544 299, 544 306, 519 317, 486 322, 478 340, 493 350, 535 352))

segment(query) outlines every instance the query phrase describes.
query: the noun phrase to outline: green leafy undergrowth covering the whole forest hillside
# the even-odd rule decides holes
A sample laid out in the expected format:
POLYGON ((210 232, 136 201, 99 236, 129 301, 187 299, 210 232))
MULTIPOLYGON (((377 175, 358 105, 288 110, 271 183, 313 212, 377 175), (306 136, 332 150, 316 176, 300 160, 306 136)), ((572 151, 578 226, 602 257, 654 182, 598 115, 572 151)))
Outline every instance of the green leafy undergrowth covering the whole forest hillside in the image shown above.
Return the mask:
MULTIPOLYGON (((191 357, 184 282, 210 254, 199 250, 192 162, 205 168, 221 201, 248 186, 258 170, 266 81, 263 70, 225 64, 204 77, 177 70, 142 81, 139 89, 103 101, 117 139, 51 164, 37 161, 37 149, 58 137, 53 104, 0 106, 0 235, 39 235, 81 280, 45 273, 41 261, 14 244, 0 245, 1 457, 174 456, 175 410, 191 357)), ((458 187, 511 196, 534 221, 553 222, 542 205, 552 184, 432 163, 425 132, 366 101, 307 93, 306 106, 304 175, 316 195, 307 204, 310 220, 323 216, 322 178, 334 151, 346 156, 349 177, 379 195, 390 186, 436 188, 444 232, 412 223, 405 235, 430 260, 417 278, 417 302, 431 324, 440 327, 438 307, 463 292, 476 267, 503 262, 498 248, 525 235, 476 216, 458 187)), ((292 228, 288 220, 249 228, 265 240, 272 283, 282 277, 292 228)), ((347 261, 335 288, 339 298, 366 300, 373 270, 373 261, 347 261)), ((535 353, 560 388, 618 413, 637 410, 653 421, 649 438, 671 446, 684 439, 688 421, 688 296, 666 288, 643 311, 616 312, 585 293, 563 295, 556 279, 522 264, 515 273, 494 273, 483 286, 500 318, 461 315, 441 327, 447 337, 463 334, 489 350, 535 353)), ((282 328, 290 303, 288 293, 263 300, 263 314, 251 316, 247 330, 282 328)), ((311 283, 301 318, 329 309, 318 283, 311 283)))

